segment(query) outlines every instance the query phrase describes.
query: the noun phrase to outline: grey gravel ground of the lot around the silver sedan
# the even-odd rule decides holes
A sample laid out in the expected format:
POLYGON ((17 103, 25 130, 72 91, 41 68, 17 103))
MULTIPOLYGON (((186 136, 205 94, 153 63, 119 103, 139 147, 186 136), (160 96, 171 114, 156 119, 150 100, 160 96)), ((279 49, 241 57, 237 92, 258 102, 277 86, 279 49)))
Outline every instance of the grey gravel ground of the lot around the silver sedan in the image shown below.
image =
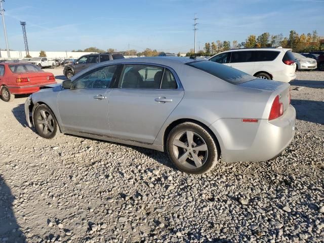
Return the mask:
POLYGON ((292 144, 202 176, 150 149, 43 139, 27 96, 0 101, 0 242, 323 242, 324 72, 297 78, 292 144))

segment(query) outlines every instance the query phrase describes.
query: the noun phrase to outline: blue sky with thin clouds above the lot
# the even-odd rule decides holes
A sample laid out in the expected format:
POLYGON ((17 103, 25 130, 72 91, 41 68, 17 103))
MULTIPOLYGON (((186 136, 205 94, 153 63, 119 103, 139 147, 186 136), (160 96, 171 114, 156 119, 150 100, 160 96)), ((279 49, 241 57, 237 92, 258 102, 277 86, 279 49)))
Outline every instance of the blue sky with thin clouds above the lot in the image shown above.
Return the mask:
MULTIPOLYGON (((20 21, 26 22, 29 51, 145 48, 188 52, 206 42, 244 42, 248 35, 317 30, 324 35, 324 0, 6 0, 9 48, 24 50, 20 21)), ((0 48, 5 49, 3 24, 0 48)))

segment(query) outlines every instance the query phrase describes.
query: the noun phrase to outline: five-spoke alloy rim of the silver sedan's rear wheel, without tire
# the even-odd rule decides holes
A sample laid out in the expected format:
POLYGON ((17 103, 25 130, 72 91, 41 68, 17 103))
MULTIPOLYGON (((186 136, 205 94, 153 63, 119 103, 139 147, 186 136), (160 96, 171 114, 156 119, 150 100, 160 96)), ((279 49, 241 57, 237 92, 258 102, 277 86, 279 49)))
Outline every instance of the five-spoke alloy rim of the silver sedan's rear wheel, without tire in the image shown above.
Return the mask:
POLYGON ((178 162, 189 169, 202 167, 208 158, 205 140, 192 131, 179 132, 172 141, 172 149, 178 162))

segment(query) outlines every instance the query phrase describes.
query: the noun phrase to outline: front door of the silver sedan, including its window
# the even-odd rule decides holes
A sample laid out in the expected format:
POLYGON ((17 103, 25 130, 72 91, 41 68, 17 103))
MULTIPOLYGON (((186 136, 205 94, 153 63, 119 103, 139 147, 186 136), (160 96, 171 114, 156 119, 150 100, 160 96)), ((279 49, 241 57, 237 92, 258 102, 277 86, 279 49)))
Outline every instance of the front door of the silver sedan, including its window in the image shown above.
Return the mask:
POLYGON ((58 95, 58 110, 65 130, 109 135, 108 96, 118 65, 105 65, 73 80, 58 95))

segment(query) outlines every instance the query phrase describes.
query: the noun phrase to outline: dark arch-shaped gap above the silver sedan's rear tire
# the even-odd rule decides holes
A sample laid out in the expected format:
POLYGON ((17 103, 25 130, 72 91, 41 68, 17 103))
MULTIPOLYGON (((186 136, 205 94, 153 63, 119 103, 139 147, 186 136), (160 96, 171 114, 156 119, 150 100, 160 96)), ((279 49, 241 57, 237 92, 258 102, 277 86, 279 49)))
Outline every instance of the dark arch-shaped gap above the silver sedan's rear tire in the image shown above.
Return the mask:
POLYGON ((220 148, 219 140, 218 140, 217 136, 213 133, 213 131, 208 126, 206 126, 204 123, 201 123, 200 121, 195 120, 195 119, 191 119, 191 118, 177 119, 177 120, 172 121, 172 123, 170 123, 168 125, 168 127, 165 129, 164 134, 163 134, 163 147, 164 147, 163 150, 164 151, 166 151, 167 140, 168 140, 168 136, 169 136, 171 130, 173 128, 175 128, 177 125, 182 124, 182 123, 186 123, 186 122, 195 123, 195 124, 203 127, 206 131, 208 131, 210 133, 210 135, 212 136, 212 138, 214 139, 214 141, 215 141, 215 144, 216 144, 217 150, 218 150, 217 151, 218 154, 221 155, 221 148, 220 148))

